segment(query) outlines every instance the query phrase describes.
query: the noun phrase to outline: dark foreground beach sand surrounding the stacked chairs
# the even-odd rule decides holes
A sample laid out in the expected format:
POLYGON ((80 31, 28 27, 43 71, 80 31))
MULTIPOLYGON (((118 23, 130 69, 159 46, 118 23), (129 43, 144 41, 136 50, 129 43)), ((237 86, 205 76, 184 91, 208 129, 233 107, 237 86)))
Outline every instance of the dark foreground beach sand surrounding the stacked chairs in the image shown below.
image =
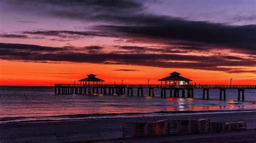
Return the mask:
MULTIPOLYGON (((111 118, 77 121, 59 121, 47 123, 7 123, 0 124, 0 142, 255 142, 256 111, 207 113, 203 115, 178 115, 166 117, 151 117, 156 119, 178 119, 180 117, 199 117, 218 120, 245 120, 248 131, 177 135, 174 137, 158 137, 132 140, 118 140, 122 137, 122 123, 136 121, 138 118, 111 118), (110 139, 110 140, 108 140, 110 139), (171 140, 170 140, 171 139, 171 140), (241 140, 239 140, 241 139, 241 140), (220 141, 218 141, 220 140, 220 141)), ((142 117, 143 118, 143 117, 142 117)))

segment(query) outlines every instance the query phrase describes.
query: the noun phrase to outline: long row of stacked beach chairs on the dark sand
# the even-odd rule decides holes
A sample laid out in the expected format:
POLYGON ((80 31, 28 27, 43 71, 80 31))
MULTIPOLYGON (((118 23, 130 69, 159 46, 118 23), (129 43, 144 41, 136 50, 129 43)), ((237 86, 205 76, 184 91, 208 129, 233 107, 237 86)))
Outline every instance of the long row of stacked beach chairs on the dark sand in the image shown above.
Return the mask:
POLYGON ((178 120, 138 119, 123 123, 123 138, 152 137, 169 134, 193 134, 207 132, 239 131, 247 128, 245 121, 212 122, 211 119, 181 118, 178 120))

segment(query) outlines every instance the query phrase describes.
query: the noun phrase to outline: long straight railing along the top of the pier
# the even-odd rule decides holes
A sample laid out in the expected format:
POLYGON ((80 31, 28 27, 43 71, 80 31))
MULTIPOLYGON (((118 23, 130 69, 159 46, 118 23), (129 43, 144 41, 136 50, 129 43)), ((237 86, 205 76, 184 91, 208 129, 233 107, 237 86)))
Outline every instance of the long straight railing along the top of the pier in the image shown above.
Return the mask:
POLYGON ((256 89, 256 85, 164 85, 164 84, 55 84, 55 87, 256 89))

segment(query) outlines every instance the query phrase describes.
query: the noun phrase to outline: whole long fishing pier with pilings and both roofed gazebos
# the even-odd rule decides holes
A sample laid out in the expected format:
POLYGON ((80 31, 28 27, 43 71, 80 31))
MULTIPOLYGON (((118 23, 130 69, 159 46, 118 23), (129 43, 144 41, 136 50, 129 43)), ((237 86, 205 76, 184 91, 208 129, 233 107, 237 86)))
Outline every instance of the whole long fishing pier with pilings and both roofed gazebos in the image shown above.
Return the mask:
POLYGON ((161 84, 103 84, 104 80, 96 78, 95 75, 87 76, 79 80, 80 84, 55 84, 55 94, 124 95, 127 91, 127 96, 133 96, 133 90, 137 88, 137 96, 144 96, 143 89, 148 88, 148 96, 154 97, 154 89, 160 88, 161 97, 166 97, 166 91, 169 90, 170 97, 194 98, 194 89, 202 89, 202 98, 209 99, 209 89, 219 89, 219 99, 225 100, 226 89, 237 89, 238 100, 244 101, 245 89, 256 89, 256 85, 192 85, 189 83, 192 80, 180 76, 177 72, 158 80, 161 84))

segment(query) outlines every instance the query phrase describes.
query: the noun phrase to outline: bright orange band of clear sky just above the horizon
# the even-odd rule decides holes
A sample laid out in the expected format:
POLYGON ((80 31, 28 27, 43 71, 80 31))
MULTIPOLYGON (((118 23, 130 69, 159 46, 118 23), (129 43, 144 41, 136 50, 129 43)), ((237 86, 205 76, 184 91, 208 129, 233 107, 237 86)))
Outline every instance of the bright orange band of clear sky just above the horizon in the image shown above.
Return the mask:
POLYGON ((0 61, 0 85, 47 85, 55 83, 73 83, 85 78, 87 74, 96 74, 107 84, 159 84, 159 78, 178 71, 181 76, 192 79, 197 84, 255 84, 255 75, 228 74, 223 71, 195 69, 172 69, 129 65, 98 65, 92 63, 36 63, 19 61, 0 61), (114 69, 136 69, 137 71, 114 71, 114 69))

